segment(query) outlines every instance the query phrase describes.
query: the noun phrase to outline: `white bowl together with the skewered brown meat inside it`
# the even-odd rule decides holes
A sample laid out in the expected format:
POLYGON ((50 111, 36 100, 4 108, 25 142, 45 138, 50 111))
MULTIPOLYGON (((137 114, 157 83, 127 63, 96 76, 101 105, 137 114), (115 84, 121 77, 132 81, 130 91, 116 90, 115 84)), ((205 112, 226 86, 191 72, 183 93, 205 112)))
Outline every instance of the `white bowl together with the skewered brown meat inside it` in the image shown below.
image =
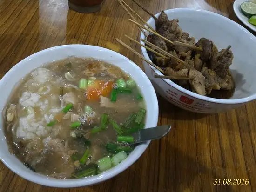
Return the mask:
POLYGON ((178 78, 155 78, 163 73, 144 62, 145 73, 163 98, 196 113, 221 113, 256 99, 256 76, 250 74, 256 66, 252 33, 233 20, 201 9, 169 9, 155 17, 157 20, 150 18, 147 23, 159 34, 193 46, 141 33, 142 44, 148 40, 179 59, 155 57, 141 47, 145 59, 161 67, 165 75, 178 78))

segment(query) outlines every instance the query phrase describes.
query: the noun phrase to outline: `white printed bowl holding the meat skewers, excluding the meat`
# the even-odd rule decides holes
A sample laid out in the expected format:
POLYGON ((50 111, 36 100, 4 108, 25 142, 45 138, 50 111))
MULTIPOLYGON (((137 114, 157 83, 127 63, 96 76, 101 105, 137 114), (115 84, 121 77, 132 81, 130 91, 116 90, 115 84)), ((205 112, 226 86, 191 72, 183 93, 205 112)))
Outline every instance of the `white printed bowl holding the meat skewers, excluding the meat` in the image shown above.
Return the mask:
MULTIPOLYGON (((155 67, 144 62, 148 75, 156 92, 172 104, 197 113, 219 113, 242 106, 256 99, 256 37, 236 22, 219 14, 191 8, 177 8, 165 11, 169 19, 179 19, 182 30, 199 40, 205 37, 213 40, 219 50, 232 46, 234 53, 231 73, 236 81, 236 91, 231 99, 214 99, 178 86, 169 79, 155 79, 154 75, 162 75, 155 67)), ((160 13, 155 16, 158 17, 160 13)), ((148 24, 155 27, 155 20, 150 18, 148 24)), ((141 38, 145 36, 141 33, 141 38)), ((144 44, 141 41, 142 44, 144 44)), ((145 45, 145 44, 144 44, 145 45)), ((150 60, 144 47, 143 56, 150 60)))

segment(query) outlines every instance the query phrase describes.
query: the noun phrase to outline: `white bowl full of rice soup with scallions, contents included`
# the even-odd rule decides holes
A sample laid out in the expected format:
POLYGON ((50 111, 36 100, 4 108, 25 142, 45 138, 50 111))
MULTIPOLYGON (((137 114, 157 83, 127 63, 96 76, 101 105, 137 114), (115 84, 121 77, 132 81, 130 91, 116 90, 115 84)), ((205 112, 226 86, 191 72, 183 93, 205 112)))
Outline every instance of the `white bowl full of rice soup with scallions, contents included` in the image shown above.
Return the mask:
POLYGON ((79 187, 114 177, 149 145, 131 145, 133 134, 157 126, 148 77, 102 47, 34 53, 8 71, 0 88, 0 159, 40 185, 79 187))

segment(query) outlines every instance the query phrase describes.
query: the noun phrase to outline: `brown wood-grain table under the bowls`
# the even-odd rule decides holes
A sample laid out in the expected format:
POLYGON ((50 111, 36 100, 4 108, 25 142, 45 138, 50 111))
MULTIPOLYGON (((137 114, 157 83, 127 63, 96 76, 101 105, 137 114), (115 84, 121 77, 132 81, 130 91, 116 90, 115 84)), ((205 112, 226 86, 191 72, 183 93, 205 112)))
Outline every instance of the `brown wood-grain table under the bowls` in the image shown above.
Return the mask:
MULTIPOLYGON (((240 23, 233 12, 234 0, 139 1, 152 13, 195 7, 240 23)), ((126 2, 145 20, 149 18, 131 0, 126 2)), ((115 41, 116 37, 125 40, 124 34, 139 38, 138 28, 127 20, 116 0, 106 0, 101 11, 93 14, 68 10, 67 0, 0 0, 0 75, 32 53, 65 44, 107 47, 141 65, 135 54, 115 41)), ((133 166, 115 178, 90 187, 54 189, 28 182, 0 163, 0 192, 256 191, 256 102, 204 115, 184 111, 159 97, 159 110, 159 125, 171 124, 173 129, 167 137, 153 141, 133 166), (249 185, 213 185, 215 179, 249 179, 249 185)))

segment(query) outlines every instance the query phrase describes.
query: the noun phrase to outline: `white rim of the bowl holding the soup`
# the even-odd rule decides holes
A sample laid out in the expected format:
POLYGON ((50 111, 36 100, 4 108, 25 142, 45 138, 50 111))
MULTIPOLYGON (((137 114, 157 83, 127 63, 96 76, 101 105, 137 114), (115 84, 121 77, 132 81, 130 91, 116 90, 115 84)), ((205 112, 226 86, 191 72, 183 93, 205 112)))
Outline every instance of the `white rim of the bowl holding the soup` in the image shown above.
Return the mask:
MULTIPOLYGON (((90 48, 94 48, 95 51, 96 49, 99 51, 106 51, 109 54, 112 55, 112 57, 116 57, 117 59, 123 59, 125 60, 127 63, 130 63, 133 68, 135 70, 139 70, 142 78, 144 79, 144 81, 149 85, 145 88, 149 89, 151 94, 150 97, 155 101, 154 103, 154 109, 156 109, 154 112, 147 114, 150 115, 150 119, 153 119, 152 124, 155 124, 155 126, 157 126, 157 122, 158 122, 158 111, 159 111, 159 106, 158 106, 158 100, 156 97, 156 93, 154 90, 153 85, 151 84, 150 80, 148 79, 147 75, 141 70, 141 68, 139 66, 137 66, 133 61, 129 60, 127 57, 121 55, 120 53, 117 53, 115 51, 112 51, 110 49, 104 48, 104 47, 100 47, 100 46, 91 46, 91 45, 83 45, 83 44, 71 44, 71 45, 62 45, 62 46, 54 46, 54 47, 50 47, 44 50, 41 50, 39 52, 36 52, 32 55, 29 55, 27 58, 21 60, 20 62, 18 62, 15 66, 13 66, 5 75, 4 77, 0 80, 0 86, 2 86, 2 84, 6 84, 6 80, 7 77, 9 75, 13 75, 13 73, 15 72, 16 68, 19 68, 20 66, 24 66, 26 67, 26 62, 34 57, 43 57, 45 55, 47 55, 48 52, 50 52, 53 49, 60 49, 62 47, 68 47, 68 48, 76 48, 76 47, 81 47, 81 50, 86 50, 86 49, 90 49, 90 48)), ((63 57, 64 59, 64 57, 63 57)), ((102 60, 104 60, 102 58, 102 60)), ((43 65, 44 63, 42 63, 41 65, 43 65)), ((41 66, 40 65, 40 66, 41 66)), ((27 72, 29 73, 29 72, 27 72)), ((132 76, 132 74, 130 74, 132 76)), ((145 89, 145 88, 141 88, 141 89, 145 89)), ((153 105, 153 104, 151 104, 153 105)), ((148 104, 147 104, 148 106, 148 104)), ((3 130, 1 130, 3 132, 3 130)), ((5 137, 5 133, 3 132, 3 137, 5 137)), ((5 141, 6 142, 6 141, 5 141)), ((27 179, 28 181, 34 182, 36 184, 40 184, 40 185, 45 185, 45 186, 50 186, 50 187, 61 187, 61 188, 71 188, 71 187, 81 187, 81 186, 89 186, 89 185, 95 185, 97 183, 100 183, 102 181, 105 181, 107 179, 113 178, 115 177, 117 174, 123 172, 124 170, 126 170, 128 167, 130 167, 131 165, 133 165, 137 159, 140 158, 140 156, 142 155, 143 152, 145 152, 145 150, 147 149, 148 145, 150 144, 150 141, 147 141, 145 143, 142 143, 141 145, 137 146, 133 153, 130 154, 127 159, 125 159, 124 161, 122 161, 119 165, 109 169, 106 172, 103 172, 101 174, 92 176, 92 177, 88 177, 88 178, 82 178, 82 179, 54 179, 54 178, 50 178, 47 176, 44 176, 40 173, 35 173, 32 172, 30 170, 27 170, 26 172, 22 171, 21 169, 16 170, 15 164, 12 163, 12 161, 8 161, 8 158, 4 156, 3 153, 0 153, 0 160, 10 169, 12 170, 14 173, 18 174, 20 177, 27 179)), ((15 157, 16 158, 16 157, 15 157)), ((19 166, 16 166, 19 167, 19 166)))

